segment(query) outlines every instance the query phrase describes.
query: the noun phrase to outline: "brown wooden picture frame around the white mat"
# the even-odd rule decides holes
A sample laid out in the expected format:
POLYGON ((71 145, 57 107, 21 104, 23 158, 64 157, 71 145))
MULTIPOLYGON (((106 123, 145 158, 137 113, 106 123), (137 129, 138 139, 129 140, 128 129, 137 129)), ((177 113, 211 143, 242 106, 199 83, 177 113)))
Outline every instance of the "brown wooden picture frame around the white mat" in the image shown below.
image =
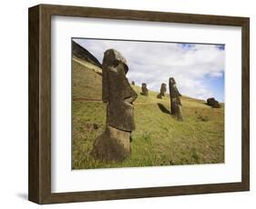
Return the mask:
POLYGON ((250 190, 250 19, 219 15, 191 15, 67 5, 29 8, 29 170, 28 199, 37 204, 210 194, 250 190), (51 16, 109 18, 199 25, 241 26, 242 122, 241 182, 196 184, 90 192, 51 192, 51 16))

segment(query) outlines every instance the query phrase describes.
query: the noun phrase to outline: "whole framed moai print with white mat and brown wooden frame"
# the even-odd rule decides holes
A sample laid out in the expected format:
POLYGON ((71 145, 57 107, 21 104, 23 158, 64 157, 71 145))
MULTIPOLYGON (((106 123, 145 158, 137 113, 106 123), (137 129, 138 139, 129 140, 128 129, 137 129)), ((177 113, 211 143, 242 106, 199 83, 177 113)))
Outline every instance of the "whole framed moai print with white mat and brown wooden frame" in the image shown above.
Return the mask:
POLYGON ((29 8, 28 199, 250 189, 249 18, 29 8))

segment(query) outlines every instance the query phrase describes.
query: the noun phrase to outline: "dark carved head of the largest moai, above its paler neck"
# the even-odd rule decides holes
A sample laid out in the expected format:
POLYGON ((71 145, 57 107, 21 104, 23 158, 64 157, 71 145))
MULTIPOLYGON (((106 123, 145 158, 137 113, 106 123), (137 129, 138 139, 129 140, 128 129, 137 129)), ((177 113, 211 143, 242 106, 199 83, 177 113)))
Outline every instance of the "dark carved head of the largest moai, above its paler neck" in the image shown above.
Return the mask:
POLYGON ((104 54, 102 71, 102 100, 108 103, 107 124, 119 130, 135 130, 132 103, 138 95, 128 83, 126 59, 109 49, 104 54))

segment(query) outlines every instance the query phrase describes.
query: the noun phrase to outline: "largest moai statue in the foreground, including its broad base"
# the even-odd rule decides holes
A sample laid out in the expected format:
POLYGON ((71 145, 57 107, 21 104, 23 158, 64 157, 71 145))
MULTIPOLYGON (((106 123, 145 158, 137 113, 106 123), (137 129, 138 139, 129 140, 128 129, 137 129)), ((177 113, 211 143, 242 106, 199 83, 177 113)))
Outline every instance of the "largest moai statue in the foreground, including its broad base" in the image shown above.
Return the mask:
POLYGON ((115 49, 108 49, 102 64, 102 100, 107 103, 107 124, 91 152, 100 161, 122 161, 131 152, 131 132, 135 130, 132 103, 138 95, 129 85, 127 73, 126 59, 115 49))

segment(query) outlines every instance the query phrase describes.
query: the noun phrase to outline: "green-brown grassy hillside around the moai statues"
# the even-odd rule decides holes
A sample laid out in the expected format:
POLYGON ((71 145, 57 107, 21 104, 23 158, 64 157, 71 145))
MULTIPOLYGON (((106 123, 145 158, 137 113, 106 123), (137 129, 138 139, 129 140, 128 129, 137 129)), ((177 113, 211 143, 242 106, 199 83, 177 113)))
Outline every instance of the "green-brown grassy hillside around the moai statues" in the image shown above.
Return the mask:
POLYGON ((97 162, 89 153, 106 124, 100 69, 73 59, 73 169, 224 162, 224 108, 182 96, 184 121, 179 122, 169 114, 168 96, 158 99, 151 91, 143 96, 133 87, 138 99, 132 153, 122 163, 97 162))

